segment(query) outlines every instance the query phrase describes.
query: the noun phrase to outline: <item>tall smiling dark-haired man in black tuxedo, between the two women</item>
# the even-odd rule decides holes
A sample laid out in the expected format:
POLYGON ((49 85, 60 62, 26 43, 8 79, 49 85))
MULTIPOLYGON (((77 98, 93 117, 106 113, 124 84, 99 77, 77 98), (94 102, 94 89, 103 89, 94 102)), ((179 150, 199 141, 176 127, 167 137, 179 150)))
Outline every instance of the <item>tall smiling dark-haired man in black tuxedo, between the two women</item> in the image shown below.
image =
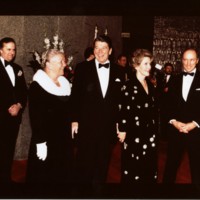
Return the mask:
MULTIPOLYGON (((100 193, 106 181, 111 147, 117 139, 122 69, 111 63, 108 36, 94 40, 95 59, 76 67, 72 86, 72 137, 77 137, 77 179, 100 193)), ((92 189, 90 188, 90 189, 92 189)))

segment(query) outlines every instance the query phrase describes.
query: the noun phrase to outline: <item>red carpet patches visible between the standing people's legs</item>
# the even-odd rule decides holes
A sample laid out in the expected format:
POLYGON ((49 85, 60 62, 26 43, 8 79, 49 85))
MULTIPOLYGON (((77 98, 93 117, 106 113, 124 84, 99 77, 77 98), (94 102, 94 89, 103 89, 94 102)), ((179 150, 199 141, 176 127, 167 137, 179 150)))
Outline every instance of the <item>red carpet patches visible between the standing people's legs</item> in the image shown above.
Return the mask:
MULTIPOLYGON (((162 182, 162 176, 166 161, 166 147, 167 143, 160 142, 158 150, 158 183, 162 182)), ((121 144, 117 143, 112 152, 112 159, 108 172, 108 183, 120 182, 120 156, 121 156, 121 144)), ((176 183, 191 183, 190 170, 188 164, 188 156, 185 153, 179 171, 177 173, 176 183)), ((25 182, 26 177, 26 160, 14 160, 12 169, 12 179, 17 183, 25 182)))

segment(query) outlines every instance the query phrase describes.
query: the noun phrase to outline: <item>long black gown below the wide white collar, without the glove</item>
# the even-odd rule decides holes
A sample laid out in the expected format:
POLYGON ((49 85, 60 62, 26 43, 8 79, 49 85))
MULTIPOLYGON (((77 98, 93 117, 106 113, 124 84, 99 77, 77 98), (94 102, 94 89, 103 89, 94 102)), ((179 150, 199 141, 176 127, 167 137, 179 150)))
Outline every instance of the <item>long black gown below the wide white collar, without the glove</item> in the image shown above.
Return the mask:
POLYGON ((28 157, 27 182, 68 183, 71 180, 73 152, 68 118, 69 96, 45 91, 36 81, 29 89, 32 138, 28 157), (39 160, 36 144, 46 142, 47 158, 39 160))

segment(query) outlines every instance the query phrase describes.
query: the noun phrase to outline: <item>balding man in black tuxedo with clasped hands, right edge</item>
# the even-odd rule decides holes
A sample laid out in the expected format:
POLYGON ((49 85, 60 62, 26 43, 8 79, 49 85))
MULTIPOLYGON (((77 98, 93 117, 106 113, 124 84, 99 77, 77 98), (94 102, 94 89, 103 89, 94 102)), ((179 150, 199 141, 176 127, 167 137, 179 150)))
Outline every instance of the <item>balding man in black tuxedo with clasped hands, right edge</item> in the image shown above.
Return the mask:
POLYGON ((183 72, 169 90, 169 141, 164 183, 174 183, 182 154, 187 150, 192 183, 200 184, 200 72, 195 49, 183 52, 183 72))

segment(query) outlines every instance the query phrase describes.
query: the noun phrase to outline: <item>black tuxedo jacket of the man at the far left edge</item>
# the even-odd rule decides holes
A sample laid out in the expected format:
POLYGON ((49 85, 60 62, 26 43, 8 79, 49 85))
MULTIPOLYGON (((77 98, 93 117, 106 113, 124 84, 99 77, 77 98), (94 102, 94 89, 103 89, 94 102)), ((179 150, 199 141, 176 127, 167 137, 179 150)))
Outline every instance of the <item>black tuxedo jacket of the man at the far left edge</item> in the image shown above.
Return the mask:
POLYGON ((10 117, 8 108, 15 104, 20 103, 22 109, 17 116, 19 122, 21 121, 21 113, 26 105, 27 101, 27 86, 24 78, 24 72, 22 68, 12 63, 12 67, 15 74, 15 86, 12 85, 9 75, 0 60, 0 120, 3 122, 10 117))

